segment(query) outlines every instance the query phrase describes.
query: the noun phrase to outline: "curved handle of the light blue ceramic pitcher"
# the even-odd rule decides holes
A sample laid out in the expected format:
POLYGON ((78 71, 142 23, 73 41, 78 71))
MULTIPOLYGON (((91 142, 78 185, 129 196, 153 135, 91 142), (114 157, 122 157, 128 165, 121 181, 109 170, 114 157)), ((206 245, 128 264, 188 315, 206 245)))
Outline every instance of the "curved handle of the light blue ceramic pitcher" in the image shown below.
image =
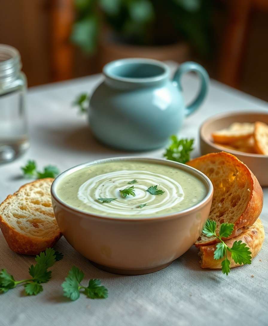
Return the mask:
POLYGON ((209 76, 207 70, 204 67, 202 67, 201 65, 193 61, 184 62, 176 70, 173 77, 173 82, 177 84, 177 86, 181 91, 182 91, 181 76, 182 74, 188 71, 195 71, 197 73, 198 77, 201 79, 201 87, 194 101, 186 107, 186 116, 193 113, 202 104, 202 102, 204 101, 208 93, 208 83, 209 83, 209 76))

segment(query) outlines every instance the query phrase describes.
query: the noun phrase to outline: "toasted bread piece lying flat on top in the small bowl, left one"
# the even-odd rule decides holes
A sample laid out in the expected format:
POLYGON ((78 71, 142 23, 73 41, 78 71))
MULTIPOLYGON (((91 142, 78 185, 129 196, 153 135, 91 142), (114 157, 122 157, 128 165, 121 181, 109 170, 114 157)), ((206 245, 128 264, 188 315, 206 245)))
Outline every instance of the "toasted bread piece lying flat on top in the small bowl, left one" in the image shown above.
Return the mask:
POLYGON ((247 139, 253 136, 254 124, 235 122, 228 128, 221 129, 212 133, 214 142, 219 144, 231 144, 234 141, 247 139))

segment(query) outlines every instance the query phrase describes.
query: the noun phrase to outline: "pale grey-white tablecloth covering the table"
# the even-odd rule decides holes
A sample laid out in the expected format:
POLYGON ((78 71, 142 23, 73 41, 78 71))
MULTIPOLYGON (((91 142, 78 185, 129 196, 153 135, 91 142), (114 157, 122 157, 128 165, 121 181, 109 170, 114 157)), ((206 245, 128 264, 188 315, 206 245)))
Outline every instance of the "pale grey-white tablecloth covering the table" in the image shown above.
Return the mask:
MULTIPOLYGON (((97 143, 87 128, 86 117, 77 115, 71 107, 78 93, 91 91, 100 80, 101 76, 96 75, 29 90, 31 148, 20 159, 0 166, 0 200, 25 183, 20 166, 27 159, 35 159, 40 168, 55 164, 63 171, 93 159, 133 155, 97 143)), ((183 85, 189 100, 197 88, 197 80, 186 76, 183 85)), ((186 119, 180 134, 196 139, 193 156, 199 155, 200 124, 213 114, 237 110, 267 111, 268 105, 211 81, 207 100, 186 119)), ((162 157, 163 151, 136 155, 162 157)), ((25 297, 23 287, 18 287, 0 295, 0 326, 268 325, 268 188, 263 191, 261 219, 266 240, 251 265, 234 268, 228 276, 220 270, 202 270, 193 246, 159 272, 116 275, 91 265, 62 237, 55 248, 64 258, 52 267, 52 279, 43 285, 41 294, 25 297), (91 300, 83 294, 75 302, 64 298, 60 284, 73 265, 84 271, 85 281, 100 278, 109 289, 108 299, 91 300)), ((13 253, 0 232, 0 268, 6 268, 15 279, 22 279, 27 277, 33 262, 33 257, 13 253)))

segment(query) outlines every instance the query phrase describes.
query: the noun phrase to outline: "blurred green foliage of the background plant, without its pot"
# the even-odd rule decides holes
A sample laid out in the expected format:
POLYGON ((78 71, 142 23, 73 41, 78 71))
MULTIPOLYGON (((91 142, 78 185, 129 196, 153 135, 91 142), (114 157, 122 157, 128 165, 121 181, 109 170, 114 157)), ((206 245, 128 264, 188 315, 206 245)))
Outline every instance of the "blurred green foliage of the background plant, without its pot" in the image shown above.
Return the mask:
POLYGON ((104 23, 120 41, 164 45, 180 40, 197 52, 210 52, 211 0, 75 0, 71 40, 94 52, 104 23))

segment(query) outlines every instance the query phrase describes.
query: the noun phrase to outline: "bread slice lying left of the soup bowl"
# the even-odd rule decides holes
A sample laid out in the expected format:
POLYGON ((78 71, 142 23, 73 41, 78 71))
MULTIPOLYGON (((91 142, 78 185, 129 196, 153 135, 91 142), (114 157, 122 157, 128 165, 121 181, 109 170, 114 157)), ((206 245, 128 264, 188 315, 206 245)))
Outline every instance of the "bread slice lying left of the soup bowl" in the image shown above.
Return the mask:
POLYGON ((50 197, 53 180, 23 185, 0 205, 0 228, 11 250, 36 255, 60 239, 50 197))

